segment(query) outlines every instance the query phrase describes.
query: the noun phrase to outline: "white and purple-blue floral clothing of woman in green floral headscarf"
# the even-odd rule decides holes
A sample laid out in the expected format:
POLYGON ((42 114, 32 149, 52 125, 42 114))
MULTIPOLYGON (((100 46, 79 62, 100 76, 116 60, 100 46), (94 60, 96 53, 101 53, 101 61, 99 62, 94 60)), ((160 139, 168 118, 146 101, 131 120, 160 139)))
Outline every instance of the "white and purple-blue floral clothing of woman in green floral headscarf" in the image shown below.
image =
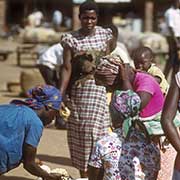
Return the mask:
POLYGON ((89 165, 104 168, 104 180, 154 180, 160 169, 160 153, 144 135, 131 131, 128 142, 121 129, 100 139, 89 165))

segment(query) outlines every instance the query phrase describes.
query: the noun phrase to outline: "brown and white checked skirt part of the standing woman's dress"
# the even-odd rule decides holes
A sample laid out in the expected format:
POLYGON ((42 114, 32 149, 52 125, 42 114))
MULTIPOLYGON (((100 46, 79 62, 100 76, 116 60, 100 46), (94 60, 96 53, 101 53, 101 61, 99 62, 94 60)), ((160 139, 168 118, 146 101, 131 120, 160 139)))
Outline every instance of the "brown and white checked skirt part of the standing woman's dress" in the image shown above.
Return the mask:
POLYGON ((89 156, 95 142, 108 134, 110 127, 106 90, 94 80, 83 87, 72 87, 71 115, 68 119, 68 144, 74 167, 87 171, 89 156))

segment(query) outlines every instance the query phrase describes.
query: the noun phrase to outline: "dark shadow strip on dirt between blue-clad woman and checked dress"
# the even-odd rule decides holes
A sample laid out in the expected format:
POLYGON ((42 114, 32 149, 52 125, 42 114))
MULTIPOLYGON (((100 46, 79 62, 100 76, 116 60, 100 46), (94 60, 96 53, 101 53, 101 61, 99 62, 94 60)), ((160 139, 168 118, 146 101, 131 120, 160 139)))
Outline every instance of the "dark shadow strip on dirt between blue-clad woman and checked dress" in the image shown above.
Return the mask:
POLYGON ((71 159, 67 157, 49 156, 49 155, 42 155, 42 154, 38 154, 37 157, 41 161, 51 162, 51 163, 60 164, 64 166, 72 166, 71 159))

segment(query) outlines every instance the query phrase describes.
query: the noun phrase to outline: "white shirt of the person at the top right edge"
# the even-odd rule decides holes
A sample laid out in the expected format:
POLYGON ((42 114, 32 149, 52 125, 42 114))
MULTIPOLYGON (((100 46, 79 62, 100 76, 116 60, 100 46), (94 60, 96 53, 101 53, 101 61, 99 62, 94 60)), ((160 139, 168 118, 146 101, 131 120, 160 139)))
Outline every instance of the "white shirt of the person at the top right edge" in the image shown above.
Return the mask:
POLYGON ((171 7, 165 12, 166 23, 174 31, 176 37, 180 37, 180 9, 171 7))

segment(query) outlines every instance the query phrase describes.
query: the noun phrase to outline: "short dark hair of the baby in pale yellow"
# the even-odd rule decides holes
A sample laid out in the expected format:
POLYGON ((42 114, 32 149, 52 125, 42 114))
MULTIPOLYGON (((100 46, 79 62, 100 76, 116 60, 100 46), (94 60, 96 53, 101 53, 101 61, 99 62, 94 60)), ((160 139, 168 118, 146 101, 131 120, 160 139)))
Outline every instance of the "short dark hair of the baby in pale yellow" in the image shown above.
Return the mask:
POLYGON ((132 58, 140 57, 142 54, 145 54, 145 56, 151 60, 154 58, 154 54, 151 48, 141 46, 133 51, 132 58))

